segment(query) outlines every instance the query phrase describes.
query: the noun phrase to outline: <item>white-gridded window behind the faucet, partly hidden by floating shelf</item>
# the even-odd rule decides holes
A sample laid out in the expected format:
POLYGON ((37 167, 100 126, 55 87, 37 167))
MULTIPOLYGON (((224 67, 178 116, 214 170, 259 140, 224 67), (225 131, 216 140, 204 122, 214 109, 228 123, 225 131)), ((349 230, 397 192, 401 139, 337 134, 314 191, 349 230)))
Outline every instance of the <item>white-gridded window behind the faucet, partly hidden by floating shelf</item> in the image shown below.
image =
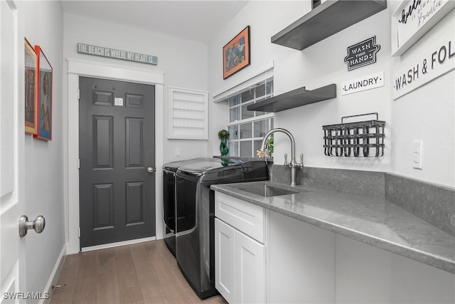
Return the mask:
POLYGON ((249 111, 247 106, 273 96, 273 78, 241 90, 227 99, 229 105, 229 155, 255 157, 262 138, 273 128, 273 113, 249 111))

